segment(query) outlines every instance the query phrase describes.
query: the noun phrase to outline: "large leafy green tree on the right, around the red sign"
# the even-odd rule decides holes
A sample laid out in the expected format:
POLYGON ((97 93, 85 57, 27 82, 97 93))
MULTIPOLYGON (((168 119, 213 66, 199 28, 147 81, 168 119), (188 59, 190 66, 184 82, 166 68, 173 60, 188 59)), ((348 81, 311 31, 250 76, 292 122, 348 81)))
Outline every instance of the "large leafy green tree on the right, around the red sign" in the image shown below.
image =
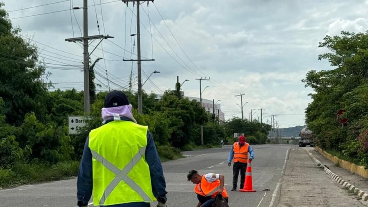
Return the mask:
POLYGON ((341 32, 340 36, 326 36, 320 48, 331 52, 318 56, 326 59, 333 70, 309 71, 302 80, 315 92, 306 112, 308 127, 314 132, 316 143, 322 148, 340 151, 359 163, 368 163, 364 155, 364 121, 368 115, 368 33, 341 32), (347 126, 341 127, 335 113, 345 109, 347 126), (363 140, 363 141, 362 141, 363 140))

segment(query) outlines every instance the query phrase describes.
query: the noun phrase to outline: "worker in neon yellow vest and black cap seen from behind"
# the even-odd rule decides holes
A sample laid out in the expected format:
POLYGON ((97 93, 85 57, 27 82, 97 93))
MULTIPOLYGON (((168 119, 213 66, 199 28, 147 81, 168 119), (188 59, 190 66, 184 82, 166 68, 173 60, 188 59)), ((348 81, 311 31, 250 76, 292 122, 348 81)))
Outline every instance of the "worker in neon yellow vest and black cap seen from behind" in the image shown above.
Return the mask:
POLYGON ((103 125, 86 139, 77 178, 77 205, 166 207, 166 183, 147 126, 137 124, 121 91, 112 91, 102 108, 103 125))

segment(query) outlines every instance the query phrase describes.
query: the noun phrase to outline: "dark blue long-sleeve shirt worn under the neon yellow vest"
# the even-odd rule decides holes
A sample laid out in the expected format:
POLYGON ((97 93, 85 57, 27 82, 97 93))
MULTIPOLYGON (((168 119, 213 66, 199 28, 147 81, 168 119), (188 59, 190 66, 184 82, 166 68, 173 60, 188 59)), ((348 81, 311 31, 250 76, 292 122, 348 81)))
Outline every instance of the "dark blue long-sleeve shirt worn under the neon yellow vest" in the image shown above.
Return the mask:
MULTIPOLYGON (((121 120, 131 121, 130 119, 121 118, 121 120)), ((107 121, 106 123, 108 123, 107 121)), ((84 151, 82 155, 82 161, 79 165, 79 172, 77 178, 77 199, 83 201, 83 206, 87 206, 88 201, 92 196, 92 153, 88 147, 89 136, 86 139, 84 145, 84 151)), ((166 182, 163 176, 162 164, 153 141, 151 133, 147 132, 147 147, 145 151, 145 159, 149 166, 149 172, 151 175, 152 192, 153 196, 160 201, 166 202, 166 182)), ((110 205, 109 207, 147 207, 149 203, 136 202, 136 203, 124 203, 117 205, 110 205)))

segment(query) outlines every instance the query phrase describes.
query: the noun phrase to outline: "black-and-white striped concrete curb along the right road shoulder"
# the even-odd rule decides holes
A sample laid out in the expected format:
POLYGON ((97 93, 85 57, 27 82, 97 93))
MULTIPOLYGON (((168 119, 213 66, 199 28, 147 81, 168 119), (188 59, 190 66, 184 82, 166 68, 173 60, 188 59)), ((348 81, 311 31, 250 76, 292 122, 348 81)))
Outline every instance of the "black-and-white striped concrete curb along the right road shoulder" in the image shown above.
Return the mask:
POLYGON ((311 157, 313 159, 313 161, 317 164, 317 166, 319 166, 319 168, 322 168, 326 172, 326 174, 329 175, 332 179, 334 179, 337 183, 339 183, 339 185, 342 185, 344 188, 353 191, 359 197, 362 198, 363 202, 368 203, 368 193, 365 193, 362 190, 358 189, 357 187, 355 187, 355 186, 351 185, 350 183, 346 182, 345 180, 340 178, 340 176, 336 175, 330 169, 326 168, 326 166, 324 166, 322 164, 322 162, 320 162, 318 159, 316 159, 312 155, 311 152, 309 152, 307 149, 305 149, 305 151, 308 153, 309 157, 311 157))

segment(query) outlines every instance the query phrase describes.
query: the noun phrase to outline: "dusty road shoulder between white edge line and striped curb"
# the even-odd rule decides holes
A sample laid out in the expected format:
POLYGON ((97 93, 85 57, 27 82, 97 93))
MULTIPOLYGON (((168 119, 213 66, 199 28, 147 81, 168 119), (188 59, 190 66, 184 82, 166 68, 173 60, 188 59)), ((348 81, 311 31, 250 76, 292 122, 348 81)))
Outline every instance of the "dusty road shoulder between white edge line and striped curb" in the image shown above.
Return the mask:
POLYGON ((342 189, 309 157, 304 148, 292 148, 277 207, 367 206, 342 189))

